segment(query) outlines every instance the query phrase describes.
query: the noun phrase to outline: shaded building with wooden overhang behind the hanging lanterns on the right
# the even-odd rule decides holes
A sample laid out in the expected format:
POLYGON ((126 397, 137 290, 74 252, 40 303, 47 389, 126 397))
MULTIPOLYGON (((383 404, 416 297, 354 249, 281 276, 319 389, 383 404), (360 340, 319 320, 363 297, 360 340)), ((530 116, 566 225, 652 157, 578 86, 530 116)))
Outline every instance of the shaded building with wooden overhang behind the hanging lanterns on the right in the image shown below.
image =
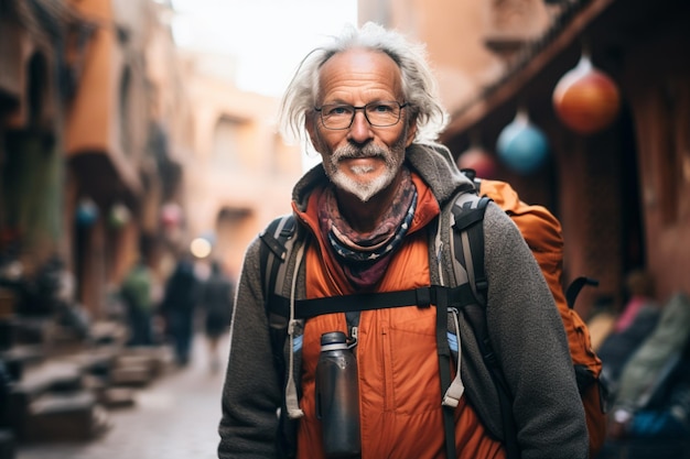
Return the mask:
MULTIPOLYGON (((428 43, 451 112, 442 136, 453 154, 481 149, 494 178, 561 220, 564 285, 599 280, 576 308, 602 297, 624 299, 634 269, 648 271, 661 302, 690 292, 687 129, 690 75, 682 1, 509 0, 360 2, 360 22, 376 20, 428 43), (461 57, 463 56, 463 57, 461 57), (582 133, 554 108, 554 89, 583 56, 619 95, 615 119, 582 133), (508 167, 497 144, 526 113, 548 142, 540 167, 508 167)), ((606 100, 591 102, 596 109, 606 100)), ((601 108, 601 107, 600 107, 601 108)), ((603 110, 603 109, 602 109, 603 110)))

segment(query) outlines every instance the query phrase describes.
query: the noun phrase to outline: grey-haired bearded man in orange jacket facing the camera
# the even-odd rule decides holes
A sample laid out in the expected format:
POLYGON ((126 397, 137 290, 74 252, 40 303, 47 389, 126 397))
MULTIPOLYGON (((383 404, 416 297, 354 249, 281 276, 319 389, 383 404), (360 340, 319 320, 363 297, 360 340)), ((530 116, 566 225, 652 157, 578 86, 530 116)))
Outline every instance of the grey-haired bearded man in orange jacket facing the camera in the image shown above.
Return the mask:
MULTIPOLYGON (((445 113, 423 48, 375 24, 348 29, 308 55, 285 92, 282 116, 285 127, 306 131, 323 160, 293 192, 304 241, 303 258, 297 251, 287 261, 299 270, 295 298, 442 284, 453 255, 448 231, 440 232, 436 253, 435 228, 449 221, 449 204, 470 184, 448 150, 429 143, 445 113)), ((493 204, 484 231, 487 324, 513 396, 521 457, 585 458, 582 403, 543 276, 516 227, 493 204)), ((352 335, 352 327, 343 313, 300 324, 301 365, 290 354, 298 341, 290 339, 287 374, 277 374, 260 245, 257 239, 248 248, 239 281, 218 457, 323 458, 314 400, 320 338, 352 335), (300 394, 297 409, 285 406, 293 405, 285 402, 285 379, 300 394), (294 427, 292 438, 285 426, 294 427)), ((434 307, 417 305, 359 314, 362 458, 446 457, 435 319, 434 307)), ((461 326, 465 393, 452 413, 456 457, 503 458, 496 392, 467 330, 461 326)))

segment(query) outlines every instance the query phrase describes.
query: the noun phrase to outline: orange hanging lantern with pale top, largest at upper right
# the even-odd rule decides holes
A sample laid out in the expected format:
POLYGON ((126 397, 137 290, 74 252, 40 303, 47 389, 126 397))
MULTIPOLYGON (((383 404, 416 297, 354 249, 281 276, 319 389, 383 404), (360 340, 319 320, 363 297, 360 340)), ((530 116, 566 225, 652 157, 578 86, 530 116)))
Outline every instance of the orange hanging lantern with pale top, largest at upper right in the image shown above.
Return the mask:
POLYGON ((580 134, 592 134, 616 119, 621 95, 611 77, 596 69, 583 54, 578 65, 556 85, 552 102, 563 124, 580 134))

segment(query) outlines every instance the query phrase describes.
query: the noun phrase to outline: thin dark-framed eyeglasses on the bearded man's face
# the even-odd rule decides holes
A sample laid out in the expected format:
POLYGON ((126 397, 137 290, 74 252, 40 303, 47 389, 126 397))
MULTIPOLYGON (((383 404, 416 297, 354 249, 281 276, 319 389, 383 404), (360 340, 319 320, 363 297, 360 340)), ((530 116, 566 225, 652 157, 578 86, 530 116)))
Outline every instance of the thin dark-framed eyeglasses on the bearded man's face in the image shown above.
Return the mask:
POLYGON ((377 128, 386 128, 397 124, 400 121, 400 112, 408 103, 399 103, 395 100, 369 102, 363 107, 355 107, 347 103, 326 103, 321 108, 314 108, 321 113, 321 121, 324 128, 339 130, 348 129, 355 120, 357 110, 364 112, 364 117, 369 124, 377 128))

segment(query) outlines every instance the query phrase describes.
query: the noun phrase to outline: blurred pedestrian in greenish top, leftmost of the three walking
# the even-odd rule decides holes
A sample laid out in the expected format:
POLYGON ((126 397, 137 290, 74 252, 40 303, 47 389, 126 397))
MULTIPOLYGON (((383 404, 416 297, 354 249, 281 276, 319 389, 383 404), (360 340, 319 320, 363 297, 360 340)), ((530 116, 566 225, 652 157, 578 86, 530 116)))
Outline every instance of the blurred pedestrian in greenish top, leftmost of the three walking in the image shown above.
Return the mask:
POLYGON ((144 259, 139 259, 131 266, 120 286, 120 297, 125 303, 129 323, 129 346, 150 346, 153 343, 153 273, 144 259))

